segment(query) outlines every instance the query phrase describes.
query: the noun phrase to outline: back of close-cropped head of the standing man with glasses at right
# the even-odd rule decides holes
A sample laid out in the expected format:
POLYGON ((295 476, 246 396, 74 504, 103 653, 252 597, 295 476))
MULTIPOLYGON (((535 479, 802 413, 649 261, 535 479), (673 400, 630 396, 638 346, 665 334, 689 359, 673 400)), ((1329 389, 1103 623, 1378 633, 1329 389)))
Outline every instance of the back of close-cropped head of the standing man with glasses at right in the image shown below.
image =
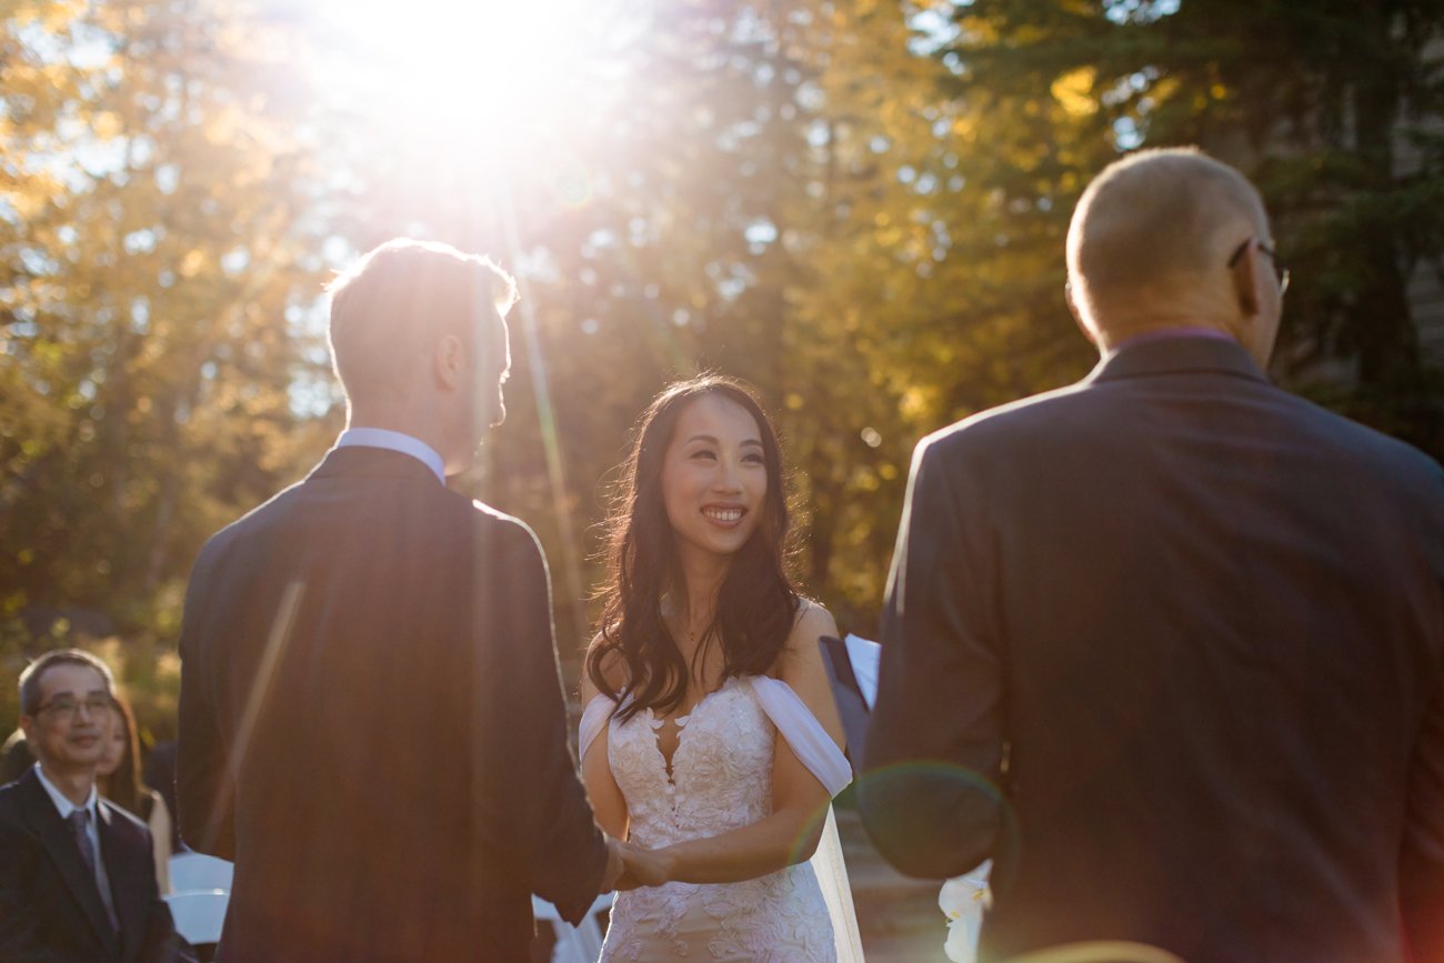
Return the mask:
POLYGON ((1073 212, 1074 309, 1103 342, 1191 323, 1248 344, 1229 257, 1251 237, 1269 241, 1268 215, 1243 175, 1193 147, 1141 150, 1105 169, 1073 212))

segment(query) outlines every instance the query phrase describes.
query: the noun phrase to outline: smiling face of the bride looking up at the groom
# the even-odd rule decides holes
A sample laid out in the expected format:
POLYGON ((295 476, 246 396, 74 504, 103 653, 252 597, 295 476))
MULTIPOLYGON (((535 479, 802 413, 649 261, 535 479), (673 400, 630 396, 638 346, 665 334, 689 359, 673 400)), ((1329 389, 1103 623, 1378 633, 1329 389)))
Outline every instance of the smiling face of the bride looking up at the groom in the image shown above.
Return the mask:
POLYGON ((705 394, 682 410, 661 492, 683 556, 731 556, 752 537, 767 501, 764 452, 757 420, 741 404, 705 394))

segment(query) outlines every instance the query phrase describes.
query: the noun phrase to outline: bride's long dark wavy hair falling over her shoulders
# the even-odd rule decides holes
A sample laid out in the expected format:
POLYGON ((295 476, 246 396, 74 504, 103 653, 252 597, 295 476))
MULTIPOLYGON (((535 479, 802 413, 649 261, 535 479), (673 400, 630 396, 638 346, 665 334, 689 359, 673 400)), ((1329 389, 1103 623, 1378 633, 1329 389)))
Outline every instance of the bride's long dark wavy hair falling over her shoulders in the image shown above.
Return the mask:
POLYGON ((661 489, 661 469, 683 409, 703 396, 719 396, 757 422, 767 465, 762 517, 732 557, 718 592, 708 645, 722 645, 722 679, 765 674, 787 642, 800 598, 787 576, 790 513, 777 432, 747 384, 705 375, 670 385, 647 407, 635 442, 622 463, 606 523, 606 583, 601 638, 586 654, 586 674, 598 690, 622 703, 625 720, 645 707, 660 715, 677 709, 687 694, 690 667, 661 616, 661 596, 683 585, 671 523, 661 489), (602 671, 619 658, 627 670, 621 689, 602 671))

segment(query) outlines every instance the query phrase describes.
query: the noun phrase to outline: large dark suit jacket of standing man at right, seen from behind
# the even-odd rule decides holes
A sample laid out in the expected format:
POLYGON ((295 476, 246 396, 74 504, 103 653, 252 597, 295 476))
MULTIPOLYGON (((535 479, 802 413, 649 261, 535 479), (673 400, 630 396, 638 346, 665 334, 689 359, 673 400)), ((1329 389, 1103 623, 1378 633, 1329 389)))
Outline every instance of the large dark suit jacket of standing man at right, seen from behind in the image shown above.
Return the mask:
POLYGON ((859 804, 985 959, 1444 959, 1444 475, 1236 344, 927 439, 882 635, 859 804))

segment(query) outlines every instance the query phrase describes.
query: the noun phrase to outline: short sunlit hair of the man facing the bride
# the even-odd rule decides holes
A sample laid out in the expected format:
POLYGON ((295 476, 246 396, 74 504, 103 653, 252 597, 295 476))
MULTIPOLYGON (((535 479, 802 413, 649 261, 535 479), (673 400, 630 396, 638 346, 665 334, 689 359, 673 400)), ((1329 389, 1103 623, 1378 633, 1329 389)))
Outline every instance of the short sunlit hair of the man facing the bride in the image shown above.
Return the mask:
POLYGON ((404 384, 414 354, 445 335, 471 345, 478 318, 500 323, 517 300, 516 282, 491 258, 412 238, 364 254, 326 290, 331 358, 352 398, 404 384))

